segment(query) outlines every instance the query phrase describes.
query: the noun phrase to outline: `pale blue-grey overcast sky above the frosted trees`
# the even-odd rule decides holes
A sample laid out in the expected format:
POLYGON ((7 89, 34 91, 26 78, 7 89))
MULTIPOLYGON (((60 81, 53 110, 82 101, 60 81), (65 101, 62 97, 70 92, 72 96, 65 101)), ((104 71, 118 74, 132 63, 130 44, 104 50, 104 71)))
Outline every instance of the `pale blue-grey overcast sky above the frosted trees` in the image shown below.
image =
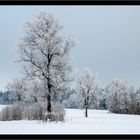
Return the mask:
POLYGON ((102 86, 113 79, 140 87, 140 6, 0 6, 0 89, 22 75, 17 44, 24 24, 40 11, 59 18, 75 36, 74 69, 89 67, 102 86))

